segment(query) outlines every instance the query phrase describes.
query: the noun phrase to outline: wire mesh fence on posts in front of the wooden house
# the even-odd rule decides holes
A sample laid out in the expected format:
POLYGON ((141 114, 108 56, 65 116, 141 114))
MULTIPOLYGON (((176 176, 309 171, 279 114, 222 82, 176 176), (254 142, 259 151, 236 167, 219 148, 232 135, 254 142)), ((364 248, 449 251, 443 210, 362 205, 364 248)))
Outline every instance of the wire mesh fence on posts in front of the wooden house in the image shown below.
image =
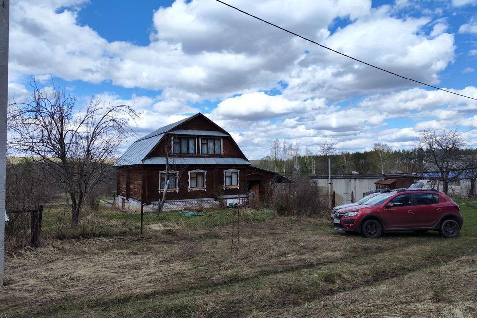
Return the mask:
POLYGON ((83 205, 77 224, 72 223, 72 207, 66 204, 41 205, 36 209, 7 211, 5 250, 40 246, 55 239, 80 239, 136 234, 167 229, 210 228, 239 221, 263 221, 276 213, 263 205, 249 204, 245 198, 237 204, 215 201, 204 208, 203 200, 180 209, 158 214, 154 205, 129 203, 127 207, 113 197, 99 204, 83 205), (143 211, 141 211, 143 210, 143 211))

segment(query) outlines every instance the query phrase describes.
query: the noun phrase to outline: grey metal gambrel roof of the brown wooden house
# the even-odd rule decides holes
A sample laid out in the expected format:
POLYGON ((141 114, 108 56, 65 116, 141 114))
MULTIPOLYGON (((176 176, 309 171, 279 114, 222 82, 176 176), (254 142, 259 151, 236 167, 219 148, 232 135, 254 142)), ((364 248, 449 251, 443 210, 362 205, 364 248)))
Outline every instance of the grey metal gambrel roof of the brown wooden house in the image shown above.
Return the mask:
MULTIPOLYGON (((166 134, 182 134, 182 135, 200 135, 200 136, 223 136, 223 137, 230 137, 231 140, 235 143, 234 139, 230 136, 228 132, 226 132, 223 128, 218 126, 212 120, 204 116, 202 113, 197 113, 190 117, 184 118, 179 120, 178 122, 166 125, 164 127, 160 127, 159 129, 153 131, 152 133, 141 137, 140 139, 136 140, 129 148, 122 154, 122 156, 116 161, 114 166, 125 166, 125 165, 140 165, 140 164, 162 164, 163 160, 160 160, 160 157, 150 157, 147 158, 149 153, 156 147, 159 141, 166 135, 166 134), (191 129, 176 129, 179 126, 193 118, 196 117, 205 118, 211 124, 213 124, 218 130, 209 131, 209 130, 191 130, 191 129)), ((236 144, 236 143, 235 143, 236 144)), ((237 148, 239 146, 236 144, 237 148)), ((239 148, 240 149, 240 148, 239 148)), ((241 152, 241 150, 240 150, 241 152)), ((242 153, 243 155, 243 153, 242 153)), ((245 164, 250 164, 248 159, 246 159, 245 155, 243 158, 231 158, 236 159, 235 162, 247 162, 245 164)), ((243 164, 242 163, 242 164, 243 164)), ((212 162, 208 163, 212 164, 212 162)))

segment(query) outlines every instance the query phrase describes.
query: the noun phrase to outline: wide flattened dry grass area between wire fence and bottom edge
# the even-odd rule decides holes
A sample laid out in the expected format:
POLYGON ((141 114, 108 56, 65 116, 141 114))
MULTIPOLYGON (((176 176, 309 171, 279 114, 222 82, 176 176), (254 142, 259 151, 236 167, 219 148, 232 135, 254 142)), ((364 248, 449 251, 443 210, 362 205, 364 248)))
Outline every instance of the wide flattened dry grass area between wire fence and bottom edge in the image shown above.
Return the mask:
POLYGON ((237 242, 236 225, 191 231, 175 223, 144 237, 54 241, 13 253, 0 313, 300 317, 305 312, 297 305, 304 302, 451 261, 476 244, 434 234, 364 239, 316 219, 277 218, 241 223, 239 248, 231 253, 232 233, 237 242))

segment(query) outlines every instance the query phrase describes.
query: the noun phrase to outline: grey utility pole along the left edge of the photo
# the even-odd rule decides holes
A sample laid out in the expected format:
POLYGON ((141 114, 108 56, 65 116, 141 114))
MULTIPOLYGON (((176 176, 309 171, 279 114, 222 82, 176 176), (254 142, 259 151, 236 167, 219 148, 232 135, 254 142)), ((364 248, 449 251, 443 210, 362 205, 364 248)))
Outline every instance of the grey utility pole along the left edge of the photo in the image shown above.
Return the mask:
POLYGON ((0 0, 0 2, 0 287, 2 287, 5 268, 6 117, 10 0, 0 0))

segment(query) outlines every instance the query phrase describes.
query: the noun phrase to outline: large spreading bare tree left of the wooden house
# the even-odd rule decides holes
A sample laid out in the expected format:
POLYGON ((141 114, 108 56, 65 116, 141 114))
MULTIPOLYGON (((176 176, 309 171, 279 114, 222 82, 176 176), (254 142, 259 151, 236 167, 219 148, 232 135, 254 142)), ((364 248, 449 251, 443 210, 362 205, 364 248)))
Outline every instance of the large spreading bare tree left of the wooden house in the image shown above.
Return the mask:
POLYGON ((133 135, 129 124, 137 118, 127 105, 106 104, 91 98, 84 109, 76 98, 53 87, 52 92, 31 82, 27 103, 9 105, 9 145, 19 154, 30 155, 52 171, 58 188, 67 189, 72 224, 78 224, 83 202, 104 181, 115 152, 133 135))

